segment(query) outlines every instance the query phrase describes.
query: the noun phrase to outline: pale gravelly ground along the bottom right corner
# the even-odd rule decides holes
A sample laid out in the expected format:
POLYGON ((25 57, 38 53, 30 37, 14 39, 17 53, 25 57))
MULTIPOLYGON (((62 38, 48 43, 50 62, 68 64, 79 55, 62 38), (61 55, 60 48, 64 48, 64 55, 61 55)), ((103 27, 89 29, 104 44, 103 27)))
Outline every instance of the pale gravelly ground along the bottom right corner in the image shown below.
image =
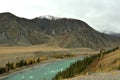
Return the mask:
POLYGON ((99 72, 65 80, 120 80, 120 71, 99 72))

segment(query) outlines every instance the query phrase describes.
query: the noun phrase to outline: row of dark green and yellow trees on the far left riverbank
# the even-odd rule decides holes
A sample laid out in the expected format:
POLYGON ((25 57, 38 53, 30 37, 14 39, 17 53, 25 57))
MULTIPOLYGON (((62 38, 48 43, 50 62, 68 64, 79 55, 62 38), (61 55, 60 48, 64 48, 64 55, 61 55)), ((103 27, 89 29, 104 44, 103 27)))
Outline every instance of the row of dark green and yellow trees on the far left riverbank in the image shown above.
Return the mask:
POLYGON ((7 73, 11 70, 16 70, 17 68, 21 68, 23 66, 28 66, 28 65, 32 65, 34 63, 39 63, 41 61, 47 60, 46 56, 42 56, 42 57, 38 57, 38 58, 28 58, 28 59, 21 59, 15 63, 10 63, 8 61, 8 63, 4 66, 4 67, 0 67, 0 74, 3 73, 7 73))

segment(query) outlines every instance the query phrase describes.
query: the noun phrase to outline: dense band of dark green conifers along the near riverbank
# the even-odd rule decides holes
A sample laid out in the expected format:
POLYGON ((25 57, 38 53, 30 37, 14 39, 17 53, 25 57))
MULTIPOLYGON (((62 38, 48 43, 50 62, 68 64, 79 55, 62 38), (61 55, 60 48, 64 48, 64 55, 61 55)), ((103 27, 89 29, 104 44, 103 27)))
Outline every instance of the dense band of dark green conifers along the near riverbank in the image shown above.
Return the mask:
POLYGON ((60 71, 56 74, 56 76, 52 80, 61 80, 63 78, 71 78, 77 74, 83 72, 87 66, 89 66, 96 58, 102 58, 104 55, 114 52, 119 47, 115 47, 113 49, 105 51, 104 49, 100 50, 99 54, 91 55, 89 57, 85 57, 83 60, 78 60, 73 64, 70 64, 70 67, 60 71))

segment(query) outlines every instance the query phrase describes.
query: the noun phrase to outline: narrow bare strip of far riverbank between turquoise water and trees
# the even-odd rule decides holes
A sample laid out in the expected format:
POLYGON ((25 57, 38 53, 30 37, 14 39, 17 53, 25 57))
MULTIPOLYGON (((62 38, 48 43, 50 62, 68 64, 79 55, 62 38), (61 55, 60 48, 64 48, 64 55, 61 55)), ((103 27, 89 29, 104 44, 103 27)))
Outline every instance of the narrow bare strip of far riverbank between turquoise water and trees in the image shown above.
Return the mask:
MULTIPOLYGON (((84 57, 85 55, 81 55, 81 56, 84 57)), ((75 59, 75 58, 77 59, 81 56, 70 57, 70 58, 62 58, 62 59, 61 58, 60 59, 59 58, 52 58, 52 59, 49 59, 49 60, 46 60, 46 61, 42 61, 40 63, 35 63, 35 64, 28 65, 28 66, 23 66, 21 68, 11 70, 8 73, 4 73, 4 74, 0 75, 0 80, 11 77, 12 75, 17 74, 17 73, 23 73, 27 70, 34 70, 35 68, 37 68, 39 66, 46 66, 50 63, 57 62, 57 61, 62 61, 62 60, 75 59)))

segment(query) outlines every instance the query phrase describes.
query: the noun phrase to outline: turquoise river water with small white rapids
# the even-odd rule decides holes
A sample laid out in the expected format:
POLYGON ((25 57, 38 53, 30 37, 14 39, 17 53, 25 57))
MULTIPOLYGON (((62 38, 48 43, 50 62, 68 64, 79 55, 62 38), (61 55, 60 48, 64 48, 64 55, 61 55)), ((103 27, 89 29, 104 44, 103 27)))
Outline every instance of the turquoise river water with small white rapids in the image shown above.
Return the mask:
POLYGON ((30 69, 12 74, 3 80, 52 80, 56 73, 68 68, 71 63, 82 59, 83 57, 81 56, 37 65, 30 69))

